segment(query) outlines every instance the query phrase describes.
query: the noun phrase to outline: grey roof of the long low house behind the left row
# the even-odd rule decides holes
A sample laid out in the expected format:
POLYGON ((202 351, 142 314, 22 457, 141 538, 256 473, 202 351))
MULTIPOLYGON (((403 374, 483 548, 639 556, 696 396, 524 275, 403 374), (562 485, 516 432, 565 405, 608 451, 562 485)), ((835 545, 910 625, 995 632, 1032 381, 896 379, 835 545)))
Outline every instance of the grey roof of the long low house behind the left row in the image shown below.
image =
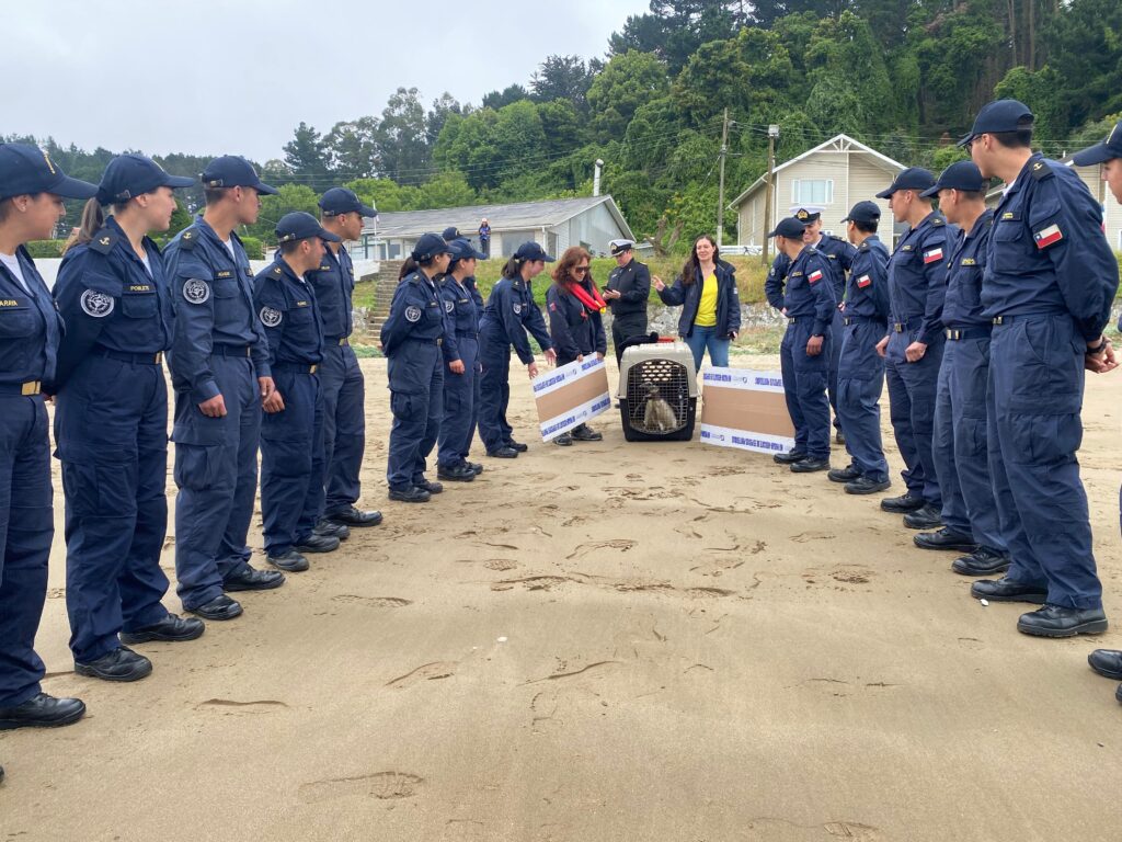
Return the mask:
MULTIPOLYGON (((585 196, 582 199, 551 199, 542 202, 517 202, 515 204, 472 204, 467 208, 441 208, 426 211, 396 211, 378 214, 378 236, 386 238, 419 237, 432 231, 440 234, 449 226, 456 226, 466 237, 476 237, 484 217, 496 232, 512 230, 552 228, 572 219, 598 204, 607 204, 608 211, 619 225, 620 231, 635 239, 610 195, 585 196)), ((373 230, 373 229, 371 229, 373 230)))

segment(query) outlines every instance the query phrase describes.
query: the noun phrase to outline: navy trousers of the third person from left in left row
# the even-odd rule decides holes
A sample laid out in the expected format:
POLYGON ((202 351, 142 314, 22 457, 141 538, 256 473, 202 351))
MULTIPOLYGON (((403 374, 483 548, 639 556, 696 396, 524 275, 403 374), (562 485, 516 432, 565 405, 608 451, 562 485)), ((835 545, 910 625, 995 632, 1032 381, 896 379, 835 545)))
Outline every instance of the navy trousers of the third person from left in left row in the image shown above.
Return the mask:
POLYGON ((208 418, 190 392, 175 395, 175 574, 187 611, 222 593, 249 565, 249 521, 257 494, 261 397, 248 357, 211 357, 226 415, 208 418))

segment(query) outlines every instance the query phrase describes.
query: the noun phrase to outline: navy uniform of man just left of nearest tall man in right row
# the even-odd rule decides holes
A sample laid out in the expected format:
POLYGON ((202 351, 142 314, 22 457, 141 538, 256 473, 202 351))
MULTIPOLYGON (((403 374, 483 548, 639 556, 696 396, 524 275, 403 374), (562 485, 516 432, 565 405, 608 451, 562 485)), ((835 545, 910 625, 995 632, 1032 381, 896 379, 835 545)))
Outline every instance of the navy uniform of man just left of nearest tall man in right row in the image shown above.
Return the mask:
POLYGON ((986 461, 990 320, 982 314, 982 275, 992 226, 993 211, 987 210, 969 234, 957 232, 947 255, 947 345, 935 403, 935 468, 944 525, 1004 552, 986 461))

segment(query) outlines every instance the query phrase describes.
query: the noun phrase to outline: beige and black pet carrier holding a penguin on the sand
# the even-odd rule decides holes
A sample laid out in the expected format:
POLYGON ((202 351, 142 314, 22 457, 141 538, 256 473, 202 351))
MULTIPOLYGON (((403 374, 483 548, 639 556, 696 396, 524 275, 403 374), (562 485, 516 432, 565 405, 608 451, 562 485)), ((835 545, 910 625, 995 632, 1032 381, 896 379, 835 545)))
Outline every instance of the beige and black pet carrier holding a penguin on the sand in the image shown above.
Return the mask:
POLYGON ((698 378, 689 346, 657 333, 628 339, 617 396, 627 441, 692 439, 698 378))

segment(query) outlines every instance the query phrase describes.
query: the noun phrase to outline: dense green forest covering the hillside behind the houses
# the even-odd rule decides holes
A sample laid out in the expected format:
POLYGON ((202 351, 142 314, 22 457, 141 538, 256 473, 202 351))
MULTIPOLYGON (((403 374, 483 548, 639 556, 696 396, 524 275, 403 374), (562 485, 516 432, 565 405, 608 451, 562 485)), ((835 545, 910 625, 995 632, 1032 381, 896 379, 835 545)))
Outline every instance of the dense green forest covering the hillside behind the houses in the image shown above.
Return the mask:
MULTIPOLYGON (((779 161, 845 131, 939 168, 995 95, 1033 109, 1052 155, 1101 139, 1122 112, 1119 0, 652 0, 607 46, 550 55, 478 104, 444 93, 426 107, 399 88, 380 113, 325 131, 301 122, 283 158, 260 163, 283 189, 250 234, 268 239, 282 213, 314 210, 338 183, 381 211, 583 195, 597 158, 638 235, 712 230, 725 109, 728 198, 764 171, 771 123, 779 161)), ((113 154, 38 143, 94 181, 113 154)), ((208 156, 158 159, 197 175, 208 156)))

